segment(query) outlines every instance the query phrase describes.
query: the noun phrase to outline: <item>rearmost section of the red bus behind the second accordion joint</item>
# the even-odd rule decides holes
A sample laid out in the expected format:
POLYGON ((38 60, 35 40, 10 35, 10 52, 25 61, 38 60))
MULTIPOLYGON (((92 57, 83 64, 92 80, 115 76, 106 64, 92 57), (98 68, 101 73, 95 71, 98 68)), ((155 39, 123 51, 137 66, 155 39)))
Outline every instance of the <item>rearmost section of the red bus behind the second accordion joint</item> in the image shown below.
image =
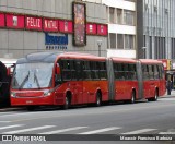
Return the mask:
POLYGON ((143 98, 152 101, 165 95, 165 76, 163 63, 158 60, 139 60, 141 64, 143 98))

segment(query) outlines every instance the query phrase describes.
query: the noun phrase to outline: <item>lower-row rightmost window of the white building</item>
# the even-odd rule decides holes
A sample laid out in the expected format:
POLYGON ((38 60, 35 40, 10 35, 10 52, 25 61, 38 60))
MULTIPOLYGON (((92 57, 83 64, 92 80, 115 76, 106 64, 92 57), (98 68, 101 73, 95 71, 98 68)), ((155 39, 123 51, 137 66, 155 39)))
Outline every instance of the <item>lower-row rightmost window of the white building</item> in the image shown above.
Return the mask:
POLYGON ((133 49, 135 38, 132 35, 125 35, 125 49, 133 49))

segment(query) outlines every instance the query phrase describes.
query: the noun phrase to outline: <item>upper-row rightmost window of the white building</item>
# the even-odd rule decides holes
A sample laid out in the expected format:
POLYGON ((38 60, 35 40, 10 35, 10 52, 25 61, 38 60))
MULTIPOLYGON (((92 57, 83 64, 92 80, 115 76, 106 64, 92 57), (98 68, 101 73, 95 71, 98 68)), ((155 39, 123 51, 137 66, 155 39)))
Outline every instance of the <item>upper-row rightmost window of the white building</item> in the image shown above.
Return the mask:
POLYGON ((135 12, 124 10, 124 24, 135 25, 135 12))

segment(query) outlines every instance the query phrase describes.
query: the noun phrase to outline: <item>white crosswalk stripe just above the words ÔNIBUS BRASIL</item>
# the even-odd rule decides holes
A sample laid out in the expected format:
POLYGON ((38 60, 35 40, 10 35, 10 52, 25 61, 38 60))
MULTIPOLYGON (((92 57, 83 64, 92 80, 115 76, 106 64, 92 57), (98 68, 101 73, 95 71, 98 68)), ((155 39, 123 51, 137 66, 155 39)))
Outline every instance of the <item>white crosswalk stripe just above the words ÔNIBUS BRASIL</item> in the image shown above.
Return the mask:
POLYGON ((43 130, 43 129, 52 128, 52 127, 55 127, 55 125, 35 127, 35 128, 30 128, 30 129, 22 129, 22 130, 15 130, 15 131, 10 131, 10 132, 4 132, 3 134, 16 134, 16 133, 35 131, 35 130, 43 130))

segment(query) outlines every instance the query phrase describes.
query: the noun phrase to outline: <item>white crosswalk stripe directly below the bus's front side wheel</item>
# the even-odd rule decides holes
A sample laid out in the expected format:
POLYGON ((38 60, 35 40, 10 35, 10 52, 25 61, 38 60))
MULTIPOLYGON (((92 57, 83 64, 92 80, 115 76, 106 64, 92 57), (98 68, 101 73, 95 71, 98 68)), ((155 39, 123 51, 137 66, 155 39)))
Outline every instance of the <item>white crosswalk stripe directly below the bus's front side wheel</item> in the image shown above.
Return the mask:
POLYGON ((50 131, 50 132, 43 132, 43 133, 38 133, 38 134, 58 134, 58 133, 61 133, 61 132, 80 130, 80 129, 84 129, 84 128, 88 128, 88 127, 74 127, 74 128, 68 128, 68 129, 56 130, 56 131, 50 131))

